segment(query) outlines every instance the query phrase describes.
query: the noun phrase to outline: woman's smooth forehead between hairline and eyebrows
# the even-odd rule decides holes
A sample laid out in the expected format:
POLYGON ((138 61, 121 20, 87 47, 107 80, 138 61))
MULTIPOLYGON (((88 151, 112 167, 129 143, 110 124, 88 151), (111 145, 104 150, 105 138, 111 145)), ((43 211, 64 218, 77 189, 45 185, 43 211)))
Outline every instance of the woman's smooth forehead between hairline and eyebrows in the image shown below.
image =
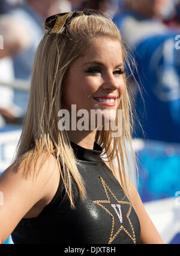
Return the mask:
POLYGON ((119 62, 123 61, 121 42, 116 39, 99 37, 85 49, 83 55, 77 58, 79 62, 119 62))

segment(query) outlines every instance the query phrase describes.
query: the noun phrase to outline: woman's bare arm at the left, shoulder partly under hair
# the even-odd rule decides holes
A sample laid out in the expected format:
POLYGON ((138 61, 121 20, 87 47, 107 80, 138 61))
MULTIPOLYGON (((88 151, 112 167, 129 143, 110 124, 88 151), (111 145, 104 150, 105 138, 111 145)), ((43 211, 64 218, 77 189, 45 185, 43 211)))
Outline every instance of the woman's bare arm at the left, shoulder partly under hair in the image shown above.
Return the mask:
MULTIPOLYGON (((0 243, 5 242, 23 216, 38 201, 49 201, 49 195, 55 194, 52 187, 57 189, 59 183, 57 179, 59 170, 55 159, 50 156, 41 165, 42 160, 43 156, 40 156, 36 168, 41 169, 34 178, 32 175, 25 178, 22 169, 17 171, 17 163, 13 163, 0 175, 0 243)), ((34 171, 33 168, 34 165, 29 172, 34 171)))

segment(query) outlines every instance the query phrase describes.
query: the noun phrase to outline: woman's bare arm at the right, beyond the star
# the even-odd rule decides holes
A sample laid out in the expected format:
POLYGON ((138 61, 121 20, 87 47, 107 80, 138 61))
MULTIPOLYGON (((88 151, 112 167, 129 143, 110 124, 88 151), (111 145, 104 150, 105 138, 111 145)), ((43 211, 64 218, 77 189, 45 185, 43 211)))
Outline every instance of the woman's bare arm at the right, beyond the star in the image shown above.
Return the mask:
MULTIPOLYGON (((109 166, 109 163, 106 162, 106 164, 109 166)), ((114 168, 116 178, 118 179, 119 184, 121 184, 119 179, 119 169, 116 166, 114 166, 114 168)), ((149 218, 136 187, 127 175, 125 178, 128 184, 131 203, 133 204, 133 208, 140 222, 140 243, 164 243, 151 221, 151 218, 149 218)))

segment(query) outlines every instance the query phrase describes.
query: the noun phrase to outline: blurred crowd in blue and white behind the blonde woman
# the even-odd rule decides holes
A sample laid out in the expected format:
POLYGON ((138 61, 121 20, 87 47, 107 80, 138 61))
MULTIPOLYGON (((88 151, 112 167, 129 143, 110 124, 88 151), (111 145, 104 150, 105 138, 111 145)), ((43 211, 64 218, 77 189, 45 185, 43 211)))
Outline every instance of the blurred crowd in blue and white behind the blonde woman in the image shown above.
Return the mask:
POLYGON ((128 88, 142 126, 135 123, 133 136, 180 143, 180 0, 1 0, 0 127, 22 124, 28 90, 10 85, 29 83, 44 19, 83 8, 109 13, 127 46, 134 73, 128 88))

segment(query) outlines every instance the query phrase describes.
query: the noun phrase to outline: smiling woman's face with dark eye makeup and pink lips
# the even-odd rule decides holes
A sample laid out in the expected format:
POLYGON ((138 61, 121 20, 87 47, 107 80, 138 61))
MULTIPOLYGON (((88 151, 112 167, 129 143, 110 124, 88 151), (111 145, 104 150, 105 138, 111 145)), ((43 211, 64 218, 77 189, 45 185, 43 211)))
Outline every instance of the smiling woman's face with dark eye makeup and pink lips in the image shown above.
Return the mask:
POLYGON ((74 104, 76 111, 86 109, 89 115, 91 109, 113 109, 116 113, 125 90, 123 72, 121 43, 96 38, 85 55, 75 59, 68 69, 63 82, 63 105, 71 110, 74 104))

